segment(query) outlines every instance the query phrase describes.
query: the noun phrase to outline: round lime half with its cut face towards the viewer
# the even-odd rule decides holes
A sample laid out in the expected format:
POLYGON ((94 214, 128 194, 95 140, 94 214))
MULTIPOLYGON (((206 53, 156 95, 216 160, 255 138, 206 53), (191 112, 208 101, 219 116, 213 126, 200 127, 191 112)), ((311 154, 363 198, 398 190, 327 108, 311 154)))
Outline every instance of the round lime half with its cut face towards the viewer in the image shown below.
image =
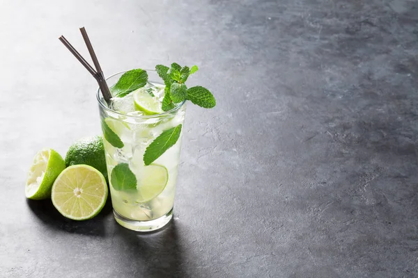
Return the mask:
POLYGON ((107 199, 103 174, 88 165, 72 165, 56 178, 52 204, 66 218, 87 220, 98 215, 107 199))

